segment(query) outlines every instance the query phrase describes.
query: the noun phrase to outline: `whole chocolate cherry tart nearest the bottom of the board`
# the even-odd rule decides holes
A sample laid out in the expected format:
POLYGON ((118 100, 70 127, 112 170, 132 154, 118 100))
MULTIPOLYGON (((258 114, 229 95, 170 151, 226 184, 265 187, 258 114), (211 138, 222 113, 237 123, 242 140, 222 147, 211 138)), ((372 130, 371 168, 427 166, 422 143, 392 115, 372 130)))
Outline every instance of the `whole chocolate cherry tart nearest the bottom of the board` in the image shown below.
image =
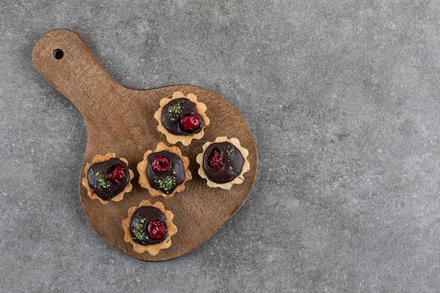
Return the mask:
POLYGON ((155 256, 160 249, 171 246, 171 236, 177 233, 174 214, 162 202, 151 204, 144 200, 138 207, 130 207, 129 216, 122 221, 124 240, 133 245, 135 252, 148 252, 155 256))

